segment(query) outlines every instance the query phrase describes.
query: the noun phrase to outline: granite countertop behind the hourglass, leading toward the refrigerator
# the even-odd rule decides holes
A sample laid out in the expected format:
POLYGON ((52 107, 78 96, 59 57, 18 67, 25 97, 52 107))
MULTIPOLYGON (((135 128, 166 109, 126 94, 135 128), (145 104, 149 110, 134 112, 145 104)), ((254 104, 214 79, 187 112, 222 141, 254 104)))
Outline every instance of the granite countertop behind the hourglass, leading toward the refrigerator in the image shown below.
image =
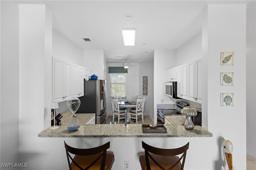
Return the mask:
MULTIPOLYGON (((75 115, 78 117, 80 124, 83 126, 86 125, 86 123, 95 116, 95 113, 75 113, 75 115)), ((69 118, 72 116, 72 113, 71 111, 66 111, 65 113, 62 113, 62 116, 63 117, 60 119, 61 125, 66 127, 69 118)))

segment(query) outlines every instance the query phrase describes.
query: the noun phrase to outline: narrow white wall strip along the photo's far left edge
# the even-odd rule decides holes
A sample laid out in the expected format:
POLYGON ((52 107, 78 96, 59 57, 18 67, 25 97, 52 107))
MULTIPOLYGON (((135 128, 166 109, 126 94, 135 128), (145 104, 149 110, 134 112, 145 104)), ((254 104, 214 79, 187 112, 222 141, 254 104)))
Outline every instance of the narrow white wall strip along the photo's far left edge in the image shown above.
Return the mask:
POLYGON ((19 13, 16 2, 1 3, 1 163, 18 162, 19 13), (12 97, 12 98, 11 98, 12 97))

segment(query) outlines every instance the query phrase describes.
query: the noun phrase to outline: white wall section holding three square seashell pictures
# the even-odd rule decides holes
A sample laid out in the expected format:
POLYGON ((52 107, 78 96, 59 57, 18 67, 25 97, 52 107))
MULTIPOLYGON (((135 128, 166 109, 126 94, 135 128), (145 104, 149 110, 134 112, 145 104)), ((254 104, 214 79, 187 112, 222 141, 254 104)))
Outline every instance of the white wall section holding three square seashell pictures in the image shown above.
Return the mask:
POLYGON ((202 109, 212 132, 213 169, 224 165, 221 138, 233 143, 233 165, 246 169, 246 5, 208 5, 203 11, 202 63, 204 85, 202 109), (232 29, 230 29, 232 28, 232 29), (220 52, 234 51, 234 65, 220 65, 220 52), (234 72, 234 86, 220 86, 220 72, 234 72), (220 106, 220 93, 234 93, 234 107, 220 106))

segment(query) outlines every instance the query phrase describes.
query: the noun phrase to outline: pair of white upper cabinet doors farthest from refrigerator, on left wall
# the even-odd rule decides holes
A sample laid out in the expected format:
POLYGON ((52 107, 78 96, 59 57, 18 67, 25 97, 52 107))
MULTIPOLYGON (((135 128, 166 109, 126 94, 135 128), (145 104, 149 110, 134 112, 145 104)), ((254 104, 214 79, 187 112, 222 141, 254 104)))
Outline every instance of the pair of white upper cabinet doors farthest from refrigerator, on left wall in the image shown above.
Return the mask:
POLYGON ((52 57, 52 101, 71 97, 71 67, 71 63, 52 57))

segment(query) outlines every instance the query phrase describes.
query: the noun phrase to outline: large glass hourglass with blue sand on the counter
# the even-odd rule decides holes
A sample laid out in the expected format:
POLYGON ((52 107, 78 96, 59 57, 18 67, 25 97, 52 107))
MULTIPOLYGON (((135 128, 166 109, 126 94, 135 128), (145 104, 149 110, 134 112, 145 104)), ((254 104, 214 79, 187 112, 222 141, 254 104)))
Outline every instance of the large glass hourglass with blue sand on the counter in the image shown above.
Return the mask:
POLYGON ((80 99, 72 98, 67 100, 68 109, 72 112, 72 116, 69 118, 67 127, 68 130, 77 130, 80 127, 80 121, 78 117, 76 117, 75 113, 80 106, 80 99))

